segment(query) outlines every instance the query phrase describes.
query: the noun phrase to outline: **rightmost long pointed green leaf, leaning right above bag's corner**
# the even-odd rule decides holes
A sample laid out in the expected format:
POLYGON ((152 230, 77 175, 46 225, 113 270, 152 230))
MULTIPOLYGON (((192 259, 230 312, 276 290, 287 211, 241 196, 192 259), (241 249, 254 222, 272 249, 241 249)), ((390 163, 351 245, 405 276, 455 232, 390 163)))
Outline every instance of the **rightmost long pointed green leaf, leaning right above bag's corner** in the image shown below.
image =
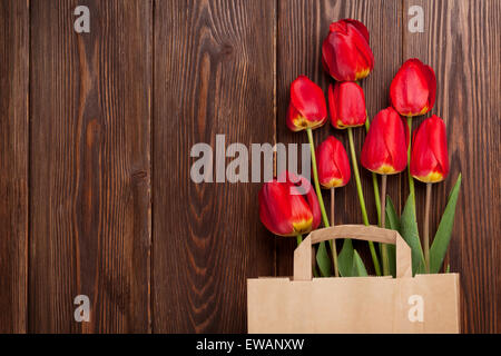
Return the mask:
POLYGON ((458 195, 461 188, 461 174, 455 181, 454 187, 449 195, 448 205, 439 224, 435 238, 430 248, 430 273, 438 274, 442 267, 443 258, 448 251, 449 243, 451 241, 452 227, 454 225, 455 205, 458 202, 458 195))

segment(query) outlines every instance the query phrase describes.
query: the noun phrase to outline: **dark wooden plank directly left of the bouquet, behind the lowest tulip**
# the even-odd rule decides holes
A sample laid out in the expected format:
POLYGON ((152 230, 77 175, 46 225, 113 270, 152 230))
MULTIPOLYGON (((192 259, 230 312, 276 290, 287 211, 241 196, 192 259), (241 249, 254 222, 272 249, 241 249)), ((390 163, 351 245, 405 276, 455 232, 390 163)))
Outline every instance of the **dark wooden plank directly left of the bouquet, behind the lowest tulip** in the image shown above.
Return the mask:
POLYGON ((157 1, 154 23, 154 332, 244 333, 246 278, 274 274, 261 185, 195 184, 190 149, 273 144, 275 2, 157 1))

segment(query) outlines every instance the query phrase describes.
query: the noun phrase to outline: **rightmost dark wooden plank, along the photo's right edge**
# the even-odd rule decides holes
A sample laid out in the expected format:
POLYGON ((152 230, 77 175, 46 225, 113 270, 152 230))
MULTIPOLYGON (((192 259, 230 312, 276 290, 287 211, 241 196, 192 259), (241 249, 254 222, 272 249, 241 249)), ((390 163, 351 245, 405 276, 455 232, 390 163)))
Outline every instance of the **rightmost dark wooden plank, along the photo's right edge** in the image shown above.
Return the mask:
MULTIPOLYGON (((461 274, 462 329, 501 332, 500 258, 500 31, 501 3, 481 1, 404 1, 403 58, 418 57, 436 73, 434 109, 448 127, 451 172, 433 186, 433 236, 446 196, 463 175, 450 246, 451 270, 461 274), (410 6, 424 9, 424 32, 406 31, 410 6)), ((414 128, 422 118, 414 120, 414 128)), ((424 185, 416 184, 419 222, 424 185)))

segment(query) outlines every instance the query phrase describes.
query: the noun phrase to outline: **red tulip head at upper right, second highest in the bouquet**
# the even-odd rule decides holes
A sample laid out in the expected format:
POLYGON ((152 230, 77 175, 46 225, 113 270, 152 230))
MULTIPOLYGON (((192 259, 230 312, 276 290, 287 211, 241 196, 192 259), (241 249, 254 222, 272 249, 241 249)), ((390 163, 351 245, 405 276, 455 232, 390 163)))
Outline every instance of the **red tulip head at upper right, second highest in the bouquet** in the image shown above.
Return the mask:
POLYGON ((420 116, 435 105, 436 79, 430 66, 419 59, 405 61, 390 86, 390 100, 402 116, 420 116))

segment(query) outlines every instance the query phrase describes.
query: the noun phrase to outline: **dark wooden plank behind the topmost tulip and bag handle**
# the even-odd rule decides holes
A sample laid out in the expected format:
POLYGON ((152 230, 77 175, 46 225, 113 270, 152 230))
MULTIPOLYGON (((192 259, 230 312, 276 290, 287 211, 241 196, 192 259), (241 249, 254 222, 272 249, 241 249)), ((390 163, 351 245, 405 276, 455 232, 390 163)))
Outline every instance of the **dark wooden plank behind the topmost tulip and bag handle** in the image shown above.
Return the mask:
MULTIPOLYGON (((371 48, 374 53, 373 72, 361 85, 365 92, 369 117, 372 119, 380 110, 390 105, 389 88, 393 73, 400 66, 401 53, 390 49, 400 48, 402 43, 401 3, 397 1, 279 1, 278 39, 277 39, 277 141, 307 142, 304 132, 292 132, 285 126, 286 110, 289 102, 291 82, 299 75, 308 76, 320 85, 327 95, 328 83, 333 79, 322 68, 322 42, 328 33, 331 22, 352 18, 362 21, 369 29, 371 48), (391 33, 391 36, 389 36, 391 33)), ((314 131, 315 142, 322 142, 333 135, 348 150, 347 132, 336 130, 330 121, 314 131)), ((365 129, 354 130, 355 150, 360 157, 365 129)), ((358 159, 360 161, 360 159, 358 159)), ((367 212, 372 224, 377 224, 371 174, 360 166, 363 191, 367 212)), ((401 184, 397 177, 389 178, 389 195, 397 209, 401 205, 401 184)), ((324 191, 324 201, 328 209, 330 194, 324 191)), ((362 224, 362 215, 356 198, 354 178, 344 188, 336 189, 335 224, 362 224)), ((277 239, 277 274, 292 274, 292 257, 296 246, 295 239, 277 239)), ((365 243, 355 241, 366 266, 372 268, 369 248, 365 243)), ((341 241, 338 250, 341 249, 341 241)))

